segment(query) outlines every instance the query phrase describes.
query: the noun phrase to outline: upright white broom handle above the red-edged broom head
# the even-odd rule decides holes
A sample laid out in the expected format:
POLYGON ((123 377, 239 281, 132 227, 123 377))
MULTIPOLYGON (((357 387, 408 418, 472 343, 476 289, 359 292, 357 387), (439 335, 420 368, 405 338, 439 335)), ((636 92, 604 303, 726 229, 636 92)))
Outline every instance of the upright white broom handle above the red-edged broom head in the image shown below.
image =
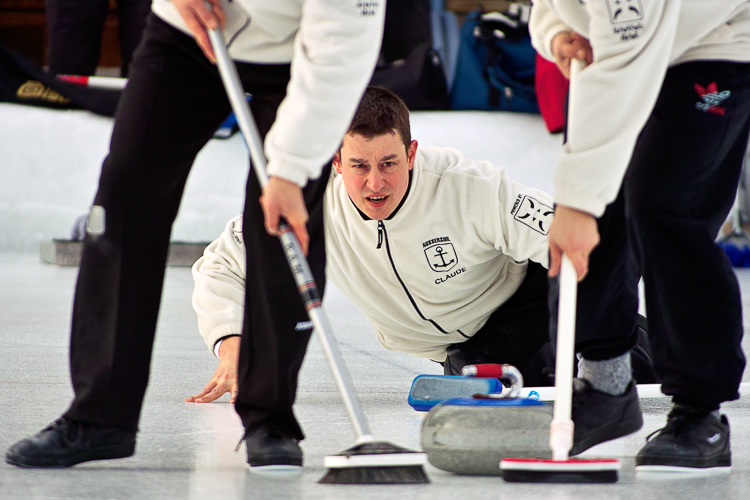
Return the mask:
MULTIPOLYGON (((585 63, 580 59, 570 61, 570 93, 568 95, 567 141, 571 139, 571 108, 575 92, 575 80, 585 63)), ((555 407, 550 425, 549 446, 553 460, 567 460, 573 447, 573 360, 576 338, 576 303, 578 279, 576 269, 567 255, 562 256, 560 266, 560 299, 557 316, 557 353, 555 357, 555 407)))

